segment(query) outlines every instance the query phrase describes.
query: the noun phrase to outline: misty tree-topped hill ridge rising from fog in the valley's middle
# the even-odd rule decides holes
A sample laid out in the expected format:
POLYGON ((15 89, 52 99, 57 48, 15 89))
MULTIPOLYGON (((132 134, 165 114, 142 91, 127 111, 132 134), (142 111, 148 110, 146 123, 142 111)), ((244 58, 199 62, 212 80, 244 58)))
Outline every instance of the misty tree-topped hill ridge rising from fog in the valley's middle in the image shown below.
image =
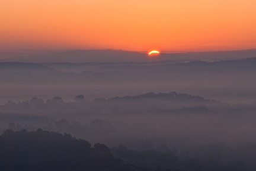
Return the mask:
POLYGON ((40 98, 32 98, 29 101, 8 101, 0 105, 2 112, 14 112, 19 114, 177 114, 177 113, 207 113, 215 111, 228 111, 228 104, 204 99, 200 96, 192 96, 176 92, 171 93, 146 93, 137 96, 124 96, 115 98, 96 98, 94 101, 85 101, 75 98, 73 102, 65 102, 55 96, 45 102, 40 98))

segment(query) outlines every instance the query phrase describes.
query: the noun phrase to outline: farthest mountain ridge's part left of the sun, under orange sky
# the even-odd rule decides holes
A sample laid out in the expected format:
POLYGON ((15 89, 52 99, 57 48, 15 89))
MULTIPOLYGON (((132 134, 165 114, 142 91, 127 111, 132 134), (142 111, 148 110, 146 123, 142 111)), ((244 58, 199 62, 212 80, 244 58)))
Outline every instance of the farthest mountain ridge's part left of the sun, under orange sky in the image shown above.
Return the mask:
POLYGON ((0 62, 34 62, 34 63, 52 63, 52 62, 133 62, 145 61, 147 55, 134 51, 124 50, 72 50, 59 53, 37 54, 25 57, 12 57, 1 59, 0 62))

